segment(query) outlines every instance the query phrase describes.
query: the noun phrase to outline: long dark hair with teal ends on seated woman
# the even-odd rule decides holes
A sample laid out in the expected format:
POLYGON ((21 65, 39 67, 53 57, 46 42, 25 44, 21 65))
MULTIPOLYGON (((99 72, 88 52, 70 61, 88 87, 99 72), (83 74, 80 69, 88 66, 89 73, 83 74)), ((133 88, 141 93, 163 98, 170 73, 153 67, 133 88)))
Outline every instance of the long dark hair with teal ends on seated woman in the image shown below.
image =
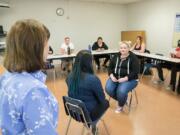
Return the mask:
POLYGON ((69 78, 69 90, 71 93, 78 93, 80 80, 83 79, 86 73, 93 74, 92 55, 87 50, 81 50, 76 56, 74 66, 69 78))

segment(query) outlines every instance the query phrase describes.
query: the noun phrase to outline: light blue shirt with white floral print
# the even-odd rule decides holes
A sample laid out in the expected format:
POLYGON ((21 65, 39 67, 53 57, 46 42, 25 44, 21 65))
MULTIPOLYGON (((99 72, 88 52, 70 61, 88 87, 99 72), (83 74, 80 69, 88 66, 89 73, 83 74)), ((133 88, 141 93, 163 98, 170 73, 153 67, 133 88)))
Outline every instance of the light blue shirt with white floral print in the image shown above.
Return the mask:
POLYGON ((3 135, 57 135, 58 103, 45 80, 41 71, 5 72, 0 77, 3 135))

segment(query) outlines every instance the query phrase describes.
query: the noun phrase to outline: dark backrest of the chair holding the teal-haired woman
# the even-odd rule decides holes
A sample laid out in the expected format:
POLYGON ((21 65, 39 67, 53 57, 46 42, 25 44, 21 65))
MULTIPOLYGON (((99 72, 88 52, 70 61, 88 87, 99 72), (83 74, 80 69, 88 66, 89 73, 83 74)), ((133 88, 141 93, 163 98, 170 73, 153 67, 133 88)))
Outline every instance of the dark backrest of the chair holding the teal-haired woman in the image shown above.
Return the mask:
POLYGON ((63 96, 63 102, 67 115, 78 122, 84 123, 87 128, 90 127, 92 120, 84 102, 67 96, 63 96))

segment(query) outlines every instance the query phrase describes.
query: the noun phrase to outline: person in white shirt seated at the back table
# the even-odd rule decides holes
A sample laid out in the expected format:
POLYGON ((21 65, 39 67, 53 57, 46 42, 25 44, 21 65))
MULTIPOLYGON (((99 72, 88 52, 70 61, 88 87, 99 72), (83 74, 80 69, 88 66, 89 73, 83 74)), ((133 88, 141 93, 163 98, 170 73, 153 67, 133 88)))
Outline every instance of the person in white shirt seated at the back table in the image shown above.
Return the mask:
MULTIPOLYGON (((68 48, 70 49, 70 53, 74 51, 74 44, 70 41, 69 37, 64 38, 64 43, 61 44, 60 53, 61 54, 68 54, 68 48)), ((72 59, 65 58, 62 59, 61 69, 63 71, 67 70, 70 72, 70 65, 72 63, 72 59)))

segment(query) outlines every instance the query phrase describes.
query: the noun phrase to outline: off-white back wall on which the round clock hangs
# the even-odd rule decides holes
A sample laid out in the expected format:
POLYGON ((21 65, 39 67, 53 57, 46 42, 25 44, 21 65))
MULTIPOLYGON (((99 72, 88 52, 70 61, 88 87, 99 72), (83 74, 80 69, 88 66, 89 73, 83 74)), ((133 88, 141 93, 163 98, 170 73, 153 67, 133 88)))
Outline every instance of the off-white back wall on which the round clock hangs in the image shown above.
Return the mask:
POLYGON ((62 0, 11 0, 10 6, 0 8, 0 25, 9 30, 18 19, 40 20, 50 29, 50 44, 56 53, 65 36, 70 36, 78 49, 87 48, 98 36, 110 48, 117 47, 121 31, 127 29, 126 6, 122 5, 71 1, 68 6, 62 0), (64 8, 64 16, 56 15, 58 7, 64 8))

